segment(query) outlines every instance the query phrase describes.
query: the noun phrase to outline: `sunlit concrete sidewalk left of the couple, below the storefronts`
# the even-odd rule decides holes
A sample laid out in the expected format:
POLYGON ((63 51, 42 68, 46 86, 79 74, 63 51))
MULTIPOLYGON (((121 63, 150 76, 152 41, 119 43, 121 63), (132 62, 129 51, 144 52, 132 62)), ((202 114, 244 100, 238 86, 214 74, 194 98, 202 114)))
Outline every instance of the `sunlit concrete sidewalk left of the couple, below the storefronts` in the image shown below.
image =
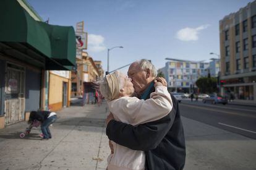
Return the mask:
POLYGON ((105 118, 106 104, 62 109, 49 140, 38 130, 20 138, 26 122, 7 126, 0 130, 0 169, 106 169, 105 118))

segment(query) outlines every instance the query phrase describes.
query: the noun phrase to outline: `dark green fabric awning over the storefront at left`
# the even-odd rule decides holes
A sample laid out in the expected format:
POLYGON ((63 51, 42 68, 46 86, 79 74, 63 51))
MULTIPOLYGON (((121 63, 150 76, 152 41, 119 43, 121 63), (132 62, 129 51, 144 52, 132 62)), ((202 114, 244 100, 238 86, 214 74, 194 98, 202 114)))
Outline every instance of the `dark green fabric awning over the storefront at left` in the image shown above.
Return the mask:
POLYGON ((0 52, 38 60, 36 66, 67 70, 75 65, 73 27, 34 20, 17 0, 0 1, 0 52))

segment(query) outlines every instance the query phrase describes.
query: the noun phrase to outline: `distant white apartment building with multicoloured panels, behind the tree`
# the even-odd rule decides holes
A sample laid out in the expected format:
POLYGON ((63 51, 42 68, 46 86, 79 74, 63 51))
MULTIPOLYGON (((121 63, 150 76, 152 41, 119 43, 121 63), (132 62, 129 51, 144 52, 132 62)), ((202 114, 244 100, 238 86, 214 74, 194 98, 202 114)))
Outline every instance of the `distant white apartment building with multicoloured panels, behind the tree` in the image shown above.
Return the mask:
MULTIPOLYGON (((203 61, 186 61, 179 59, 168 59, 165 67, 158 70, 163 72, 168 82, 169 91, 177 91, 184 93, 197 92, 195 82, 200 77, 205 77, 208 73, 216 75, 216 71, 211 70, 209 62, 203 61)), ((213 64, 212 64, 213 65, 213 64)), ((216 65, 215 65, 216 66, 216 65)))

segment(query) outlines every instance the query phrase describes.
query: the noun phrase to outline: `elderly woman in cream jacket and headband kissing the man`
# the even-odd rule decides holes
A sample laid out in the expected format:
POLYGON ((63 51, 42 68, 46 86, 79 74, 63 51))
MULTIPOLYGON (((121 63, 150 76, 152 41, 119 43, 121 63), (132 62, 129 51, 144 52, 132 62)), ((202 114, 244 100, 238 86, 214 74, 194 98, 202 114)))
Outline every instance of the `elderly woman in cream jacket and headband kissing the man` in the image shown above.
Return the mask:
MULTIPOLYGON (((126 124, 139 125, 156 121, 169 114, 173 108, 171 96, 168 93, 165 80, 158 77, 155 80, 155 92, 150 99, 139 100, 131 97, 134 93, 134 85, 131 80, 114 72, 106 75, 100 84, 101 94, 108 100, 108 106, 116 121, 126 124)), ((111 169, 144 169, 145 153, 138 150, 130 150, 113 143, 114 153, 108 157, 108 170, 111 169)))

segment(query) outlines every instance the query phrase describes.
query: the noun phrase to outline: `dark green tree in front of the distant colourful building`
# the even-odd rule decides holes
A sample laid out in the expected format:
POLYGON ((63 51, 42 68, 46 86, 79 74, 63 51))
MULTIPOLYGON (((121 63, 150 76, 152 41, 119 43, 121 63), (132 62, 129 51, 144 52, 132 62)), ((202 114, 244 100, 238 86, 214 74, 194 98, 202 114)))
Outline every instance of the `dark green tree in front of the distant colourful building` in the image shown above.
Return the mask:
POLYGON ((215 77, 201 77, 195 82, 201 93, 213 93, 218 90, 215 77))

